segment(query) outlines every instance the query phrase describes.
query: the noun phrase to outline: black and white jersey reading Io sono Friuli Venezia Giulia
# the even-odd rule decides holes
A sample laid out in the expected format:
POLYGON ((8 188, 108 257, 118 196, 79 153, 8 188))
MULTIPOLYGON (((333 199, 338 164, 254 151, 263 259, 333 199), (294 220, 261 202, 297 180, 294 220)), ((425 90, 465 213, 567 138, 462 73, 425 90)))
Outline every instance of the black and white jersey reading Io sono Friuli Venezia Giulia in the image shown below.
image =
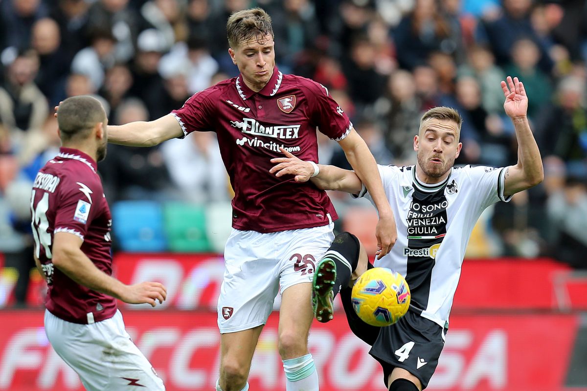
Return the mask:
MULTIPOLYGON (((427 185, 415 166, 382 166, 379 173, 392 207, 397 242, 375 266, 401 273, 410 287, 411 306, 441 327, 461 275, 461 264, 481 212, 504 197, 505 168, 452 168, 440 183, 427 185)), ((365 186, 358 197, 372 203, 365 186)))

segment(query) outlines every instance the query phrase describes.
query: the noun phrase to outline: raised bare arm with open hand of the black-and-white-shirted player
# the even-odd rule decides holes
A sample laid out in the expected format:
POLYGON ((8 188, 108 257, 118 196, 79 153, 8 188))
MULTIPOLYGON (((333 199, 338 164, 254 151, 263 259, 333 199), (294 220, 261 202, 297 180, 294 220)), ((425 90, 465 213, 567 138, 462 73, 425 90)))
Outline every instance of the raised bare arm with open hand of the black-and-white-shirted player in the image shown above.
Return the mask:
POLYGON ((524 84, 511 76, 501 81, 504 91, 504 110, 514 124, 518 138, 518 164, 509 166, 505 170, 504 195, 510 196, 532 186, 538 185, 544 179, 540 150, 532 135, 528 117, 528 96, 524 84))

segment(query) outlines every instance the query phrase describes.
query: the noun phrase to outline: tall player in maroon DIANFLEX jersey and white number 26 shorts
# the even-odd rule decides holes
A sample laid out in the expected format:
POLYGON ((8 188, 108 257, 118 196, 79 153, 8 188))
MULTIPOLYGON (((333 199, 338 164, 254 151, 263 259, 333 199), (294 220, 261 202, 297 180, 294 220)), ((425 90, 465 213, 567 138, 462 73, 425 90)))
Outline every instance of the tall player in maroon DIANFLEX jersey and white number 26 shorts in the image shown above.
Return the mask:
MULTIPOLYGON (((339 142, 379 210, 379 256, 397 232, 377 166, 328 89, 283 74, 275 66, 271 18, 260 8, 233 13, 228 53, 240 74, 194 94, 183 107, 150 122, 108 127, 109 141, 149 147, 193 131, 214 131, 235 196, 226 269, 218 299, 221 333, 219 391, 248 390, 247 377, 261 329, 281 290, 279 353, 288 391, 317 391, 308 353, 311 278, 333 240, 338 216, 325 192, 295 178, 269 174, 279 148, 318 162, 316 128, 339 142)), ((315 297, 315 301, 330 302, 315 297)), ((317 318, 320 313, 315 314, 317 318)))

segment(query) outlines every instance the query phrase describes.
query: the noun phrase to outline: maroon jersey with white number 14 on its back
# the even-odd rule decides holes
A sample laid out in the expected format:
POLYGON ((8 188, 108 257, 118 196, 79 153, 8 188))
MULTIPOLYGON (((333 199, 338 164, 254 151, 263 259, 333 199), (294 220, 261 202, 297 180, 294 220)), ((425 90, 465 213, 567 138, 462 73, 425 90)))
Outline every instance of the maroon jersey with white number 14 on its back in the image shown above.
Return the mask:
POLYGON ((116 300, 77 284, 53 267, 53 235, 68 232, 79 236, 83 253, 97 268, 112 274, 112 216, 96 168, 96 162, 83 152, 61 148, 37 174, 31 197, 35 255, 49 285, 47 310, 63 320, 82 324, 112 317, 116 300))

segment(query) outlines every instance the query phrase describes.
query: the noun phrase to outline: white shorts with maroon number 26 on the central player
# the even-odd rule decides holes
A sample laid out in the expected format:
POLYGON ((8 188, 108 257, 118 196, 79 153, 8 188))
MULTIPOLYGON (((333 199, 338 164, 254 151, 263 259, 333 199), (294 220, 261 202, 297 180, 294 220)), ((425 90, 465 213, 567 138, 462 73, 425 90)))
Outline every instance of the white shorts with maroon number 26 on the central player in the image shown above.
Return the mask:
POLYGON ((279 290, 311 283, 316 263, 334 240, 333 228, 331 222, 272 233, 232 229, 218 298, 221 334, 264 325, 279 290))

